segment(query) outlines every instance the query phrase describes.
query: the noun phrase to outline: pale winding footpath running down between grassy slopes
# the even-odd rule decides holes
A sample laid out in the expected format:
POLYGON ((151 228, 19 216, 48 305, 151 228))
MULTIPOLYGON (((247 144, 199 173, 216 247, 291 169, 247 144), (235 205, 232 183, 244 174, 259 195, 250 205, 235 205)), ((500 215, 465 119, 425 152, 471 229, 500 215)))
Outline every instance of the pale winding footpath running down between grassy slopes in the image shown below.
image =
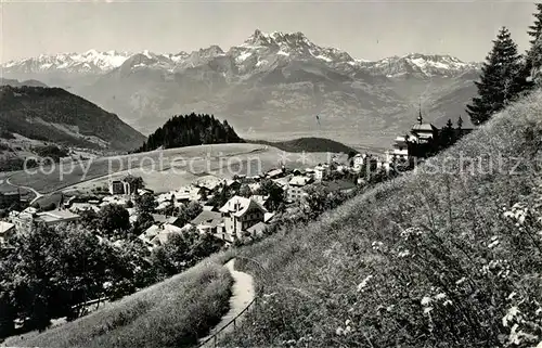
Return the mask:
MULTIPOLYGON (((255 298, 256 291, 254 288, 254 280, 253 276, 245 272, 240 272, 234 269, 235 259, 231 259, 229 262, 224 265, 224 267, 230 271, 233 276, 233 286, 232 286, 232 296, 230 297, 230 310, 225 313, 220 323, 218 323, 215 327, 212 327, 209 332, 209 335, 199 339, 198 344, 205 343, 207 339, 212 337, 216 332, 219 332, 224 326, 230 324, 230 322, 236 318, 255 298)), ((235 325, 241 322, 243 315, 235 320, 235 325)), ((231 333, 235 330, 235 325, 230 324, 225 328, 223 328, 219 336, 225 333, 231 333)), ((220 338, 220 337, 217 337, 220 338)), ((197 347, 214 347, 214 339, 210 339, 205 345, 197 347)))

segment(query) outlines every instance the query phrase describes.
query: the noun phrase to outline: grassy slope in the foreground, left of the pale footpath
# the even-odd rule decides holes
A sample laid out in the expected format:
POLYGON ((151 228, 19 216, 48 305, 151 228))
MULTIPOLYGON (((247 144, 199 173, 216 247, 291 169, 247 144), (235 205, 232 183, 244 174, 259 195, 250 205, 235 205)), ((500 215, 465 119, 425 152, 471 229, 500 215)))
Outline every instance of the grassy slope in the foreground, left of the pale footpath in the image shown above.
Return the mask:
POLYGON ((190 347, 229 310, 233 279, 219 254, 162 283, 41 334, 11 337, 24 347, 190 347))

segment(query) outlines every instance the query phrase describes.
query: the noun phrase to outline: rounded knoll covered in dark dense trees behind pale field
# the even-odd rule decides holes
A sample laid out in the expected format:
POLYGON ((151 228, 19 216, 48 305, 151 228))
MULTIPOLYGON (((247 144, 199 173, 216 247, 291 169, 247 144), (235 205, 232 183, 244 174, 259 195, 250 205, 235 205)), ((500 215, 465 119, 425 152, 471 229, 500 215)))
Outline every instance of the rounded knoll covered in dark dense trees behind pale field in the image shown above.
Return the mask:
POLYGON ((220 121, 212 115, 190 114, 173 116, 164 126, 149 136, 137 152, 182 147, 202 144, 244 142, 228 121, 220 121))

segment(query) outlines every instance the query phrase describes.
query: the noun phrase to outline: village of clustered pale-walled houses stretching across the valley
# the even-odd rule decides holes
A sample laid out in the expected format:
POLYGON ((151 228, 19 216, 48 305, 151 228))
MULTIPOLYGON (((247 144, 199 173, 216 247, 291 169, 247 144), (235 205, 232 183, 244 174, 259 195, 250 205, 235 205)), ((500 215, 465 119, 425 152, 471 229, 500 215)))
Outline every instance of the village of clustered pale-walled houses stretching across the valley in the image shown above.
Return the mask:
MULTIPOLYGON (((141 178, 128 176, 124 180, 109 180, 107 188, 98 188, 94 195, 83 197, 63 196, 59 206, 52 209, 38 209, 34 206, 22 211, 11 210, 0 221, 0 243, 7 244, 17 231, 31 229, 36 223, 55 225, 77 222, 81 215, 99 214, 108 205, 126 208, 130 223, 136 223, 141 209, 134 202, 144 197, 150 204, 145 212, 151 214, 144 231, 138 236, 152 250, 164 245, 171 234, 182 234, 195 229, 201 234, 210 234, 231 245, 235 241, 260 237, 274 222, 278 212, 288 211, 304 204, 307 189, 313 185, 325 188, 328 194, 350 193, 362 188, 378 173, 412 169, 415 160, 434 154, 443 142, 459 139, 470 129, 456 129, 450 124, 439 130, 423 121, 422 112, 410 134, 397 137, 392 149, 386 151, 384 158, 373 154, 350 154, 339 160, 334 156, 331 163, 319 164, 312 168, 292 169, 284 165, 259 176, 235 176, 231 179, 204 176, 190 185, 175 191, 155 194, 145 189, 141 178), (447 136, 447 132, 449 134, 447 136), (139 180, 138 180, 139 179, 139 180), (180 209, 192 205, 198 215, 189 221, 178 217, 180 209), (46 210, 46 211, 43 211, 46 210)), ((449 145, 449 144, 444 144, 449 145)), ((3 206, 16 203, 20 195, 3 194, 3 206)))

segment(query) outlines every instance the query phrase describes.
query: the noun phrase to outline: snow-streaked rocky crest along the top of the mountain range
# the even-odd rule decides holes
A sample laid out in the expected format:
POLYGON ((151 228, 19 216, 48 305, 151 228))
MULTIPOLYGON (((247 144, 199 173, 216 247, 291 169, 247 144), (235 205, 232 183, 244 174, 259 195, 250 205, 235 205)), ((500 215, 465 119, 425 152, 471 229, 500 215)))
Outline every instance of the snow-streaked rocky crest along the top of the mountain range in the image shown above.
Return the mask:
POLYGON ((130 69, 163 69, 176 73, 184 68, 193 68, 212 63, 235 74, 247 75, 253 72, 272 68, 278 64, 292 61, 317 62, 337 68, 343 73, 364 70, 371 75, 388 77, 401 75, 456 76, 467 70, 479 68, 478 63, 466 63, 450 55, 409 53, 401 56, 390 56, 370 62, 354 59, 347 52, 318 46, 300 31, 263 33, 256 29, 240 46, 234 46, 224 52, 219 46, 210 46, 193 52, 153 53, 143 50, 139 53, 105 51, 90 49, 83 53, 40 54, 37 57, 12 61, 0 65, 5 74, 50 73, 69 74, 104 74, 116 68, 124 72, 130 69))

